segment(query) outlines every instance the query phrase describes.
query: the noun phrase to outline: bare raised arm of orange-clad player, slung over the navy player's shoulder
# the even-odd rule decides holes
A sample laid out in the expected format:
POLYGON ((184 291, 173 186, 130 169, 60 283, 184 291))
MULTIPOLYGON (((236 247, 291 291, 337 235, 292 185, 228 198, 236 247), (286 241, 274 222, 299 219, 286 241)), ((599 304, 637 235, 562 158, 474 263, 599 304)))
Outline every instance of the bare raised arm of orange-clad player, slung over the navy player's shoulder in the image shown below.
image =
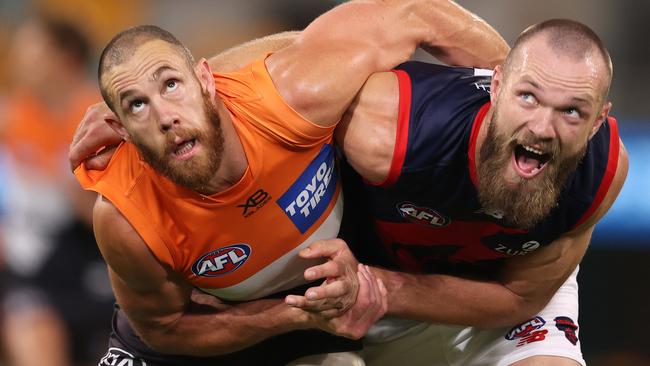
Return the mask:
MULTIPOLYGON (((437 50, 447 61, 459 57, 475 63, 478 57, 471 55, 477 53, 465 48, 484 44, 484 30, 491 28, 448 0, 351 1, 317 18, 266 65, 290 106, 329 126, 339 121, 373 72, 406 61, 420 45, 437 50), (481 37, 459 44, 463 34, 481 37)), ((507 51, 496 37, 500 46, 490 52, 490 62, 507 51)))

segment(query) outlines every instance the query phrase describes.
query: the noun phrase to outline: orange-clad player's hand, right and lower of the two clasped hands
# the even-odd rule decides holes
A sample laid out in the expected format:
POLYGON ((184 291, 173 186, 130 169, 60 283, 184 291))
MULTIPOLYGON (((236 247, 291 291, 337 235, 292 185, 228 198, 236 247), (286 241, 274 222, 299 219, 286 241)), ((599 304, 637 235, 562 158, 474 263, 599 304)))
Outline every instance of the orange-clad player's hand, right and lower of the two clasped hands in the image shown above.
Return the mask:
POLYGON ((368 329, 388 310, 388 291, 368 266, 358 264, 359 293, 354 305, 343 315, 326 319, 311 313, 318 327, 332 334, 351 339, 363 337, 368 329))

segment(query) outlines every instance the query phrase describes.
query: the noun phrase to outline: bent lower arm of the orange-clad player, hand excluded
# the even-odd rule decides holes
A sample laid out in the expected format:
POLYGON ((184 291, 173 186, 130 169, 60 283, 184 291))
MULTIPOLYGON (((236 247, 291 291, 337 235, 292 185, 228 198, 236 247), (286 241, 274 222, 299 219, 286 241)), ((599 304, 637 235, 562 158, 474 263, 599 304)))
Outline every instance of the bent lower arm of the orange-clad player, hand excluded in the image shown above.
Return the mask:
POLYGON ((199 306, 191 301, 191 285, 158 262, 103 198, 96 203, 94 222, 117 302, 142 340, 156 351, 218 355, 308 326, 306 313, 279 300, 231 306, 212 298, 211 306, 199 306))

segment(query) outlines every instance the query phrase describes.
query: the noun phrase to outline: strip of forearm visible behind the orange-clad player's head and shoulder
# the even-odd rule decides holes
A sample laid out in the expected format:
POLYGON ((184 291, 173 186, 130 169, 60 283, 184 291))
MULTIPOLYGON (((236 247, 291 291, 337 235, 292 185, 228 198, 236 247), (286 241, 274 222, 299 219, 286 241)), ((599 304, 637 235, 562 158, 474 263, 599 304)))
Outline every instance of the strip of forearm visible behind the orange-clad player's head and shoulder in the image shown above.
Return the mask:
POLYGON ((232 47, 213 56, 208 60, 212 70, 216 72, 233 72, 249 63, 259 60, 269 52, 275 52, 295 41, 300 32, 282 32, 263 38, 254 39, 244 44, 232 47))

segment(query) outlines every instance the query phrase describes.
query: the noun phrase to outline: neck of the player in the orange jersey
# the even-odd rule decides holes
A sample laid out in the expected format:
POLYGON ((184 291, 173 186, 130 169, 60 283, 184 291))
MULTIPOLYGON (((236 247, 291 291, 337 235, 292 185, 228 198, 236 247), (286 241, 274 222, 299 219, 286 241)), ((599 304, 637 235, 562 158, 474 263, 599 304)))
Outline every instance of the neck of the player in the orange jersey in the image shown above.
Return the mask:
POLYGON ((244 146, 233 125, 230 113, 228 113, 223 103, 218 98, 216 99, 217 112, 221 119, 221 129, 224 138, 223 157, 210 183, 199 192, 204 195, 223 192, 234 186, 242 178, 248 167, 244 146))

